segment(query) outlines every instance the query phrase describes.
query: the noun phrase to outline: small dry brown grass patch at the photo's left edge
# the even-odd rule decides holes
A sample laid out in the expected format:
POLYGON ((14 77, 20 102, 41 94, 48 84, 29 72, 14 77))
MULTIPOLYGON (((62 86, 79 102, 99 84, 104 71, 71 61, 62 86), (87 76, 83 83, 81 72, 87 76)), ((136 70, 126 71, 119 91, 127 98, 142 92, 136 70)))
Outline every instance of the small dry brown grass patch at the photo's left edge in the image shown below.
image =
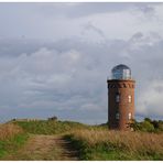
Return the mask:
POLYGON ((22 132, 23 130, 17 124, 12 123, 0 124, 0 141, 10 139, 13 135, 22 132))

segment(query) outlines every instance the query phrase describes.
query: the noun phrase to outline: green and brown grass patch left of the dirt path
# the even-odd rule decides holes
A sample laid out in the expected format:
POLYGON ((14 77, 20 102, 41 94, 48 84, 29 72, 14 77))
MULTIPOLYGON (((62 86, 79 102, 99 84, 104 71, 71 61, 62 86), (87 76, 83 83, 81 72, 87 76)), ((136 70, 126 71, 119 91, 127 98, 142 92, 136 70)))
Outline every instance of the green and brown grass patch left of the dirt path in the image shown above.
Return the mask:
POLYGON ((0 160, 14 153, 28 140, 28 134, 15 124, 0 124, 0 160))

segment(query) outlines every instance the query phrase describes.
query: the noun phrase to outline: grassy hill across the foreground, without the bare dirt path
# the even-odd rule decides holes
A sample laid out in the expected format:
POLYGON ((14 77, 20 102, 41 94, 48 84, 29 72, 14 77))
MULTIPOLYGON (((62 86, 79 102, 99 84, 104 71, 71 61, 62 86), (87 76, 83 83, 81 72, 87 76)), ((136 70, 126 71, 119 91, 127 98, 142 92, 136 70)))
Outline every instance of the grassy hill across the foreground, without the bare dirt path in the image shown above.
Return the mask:
MULTIPOLYGON (((149 124, 145 123, 143 128, 144 123, 138 124, 138 131, 121 132, 109 131, 106 124, 87 126, 58 120, 15 120, 0 126, 0 159, 21 149, 31 135, 36 140, 45 134, 47 138, 57 135, 58 141, 69 142, 70 148, 78 151, 79 160, 163 160, 163 132, 154 133, 149 124)), ((53 153, 51 151, 52 155, 53 153)))

